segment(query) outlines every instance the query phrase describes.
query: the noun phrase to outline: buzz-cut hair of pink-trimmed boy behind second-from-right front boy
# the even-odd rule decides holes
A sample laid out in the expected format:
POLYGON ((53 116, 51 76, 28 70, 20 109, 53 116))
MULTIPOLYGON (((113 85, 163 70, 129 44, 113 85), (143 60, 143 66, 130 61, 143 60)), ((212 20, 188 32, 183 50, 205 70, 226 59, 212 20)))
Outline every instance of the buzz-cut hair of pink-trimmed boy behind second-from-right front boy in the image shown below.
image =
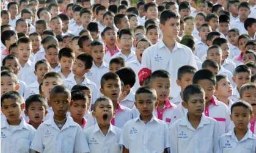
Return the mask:
POLYGON ((210 80, 213 85, 216 85, 216 76, 208 69, 200 69, 194 74, 193 84, 198 84, 200 80, 210 80))

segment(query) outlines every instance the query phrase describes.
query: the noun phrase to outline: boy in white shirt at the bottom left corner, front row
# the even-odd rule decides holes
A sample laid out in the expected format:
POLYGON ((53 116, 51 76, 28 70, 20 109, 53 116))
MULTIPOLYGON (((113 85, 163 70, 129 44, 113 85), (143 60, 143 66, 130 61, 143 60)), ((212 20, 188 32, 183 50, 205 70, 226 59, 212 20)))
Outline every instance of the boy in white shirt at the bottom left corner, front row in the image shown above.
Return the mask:
POLYGON ((1 152, 29 152, 36 130, 21 117, 25 104, 19 93, 9 91, 1 95, 1 112, 6 119, 1 122, 1 152))

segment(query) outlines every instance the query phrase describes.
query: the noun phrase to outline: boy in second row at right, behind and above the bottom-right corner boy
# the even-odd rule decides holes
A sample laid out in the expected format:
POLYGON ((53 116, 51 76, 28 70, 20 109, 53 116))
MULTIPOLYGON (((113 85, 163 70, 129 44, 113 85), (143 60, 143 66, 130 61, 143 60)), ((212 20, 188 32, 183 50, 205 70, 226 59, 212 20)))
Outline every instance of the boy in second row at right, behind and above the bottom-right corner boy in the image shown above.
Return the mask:
POLYGON ((240 98, 240 88, 242 85, 249 83, 251 81, 251 69, 245 65, 239 65, 235 69, 235 76, 232 77, 233 82, 236 83, 236 87, 232 93, 232 101, 236 102, 240 98))

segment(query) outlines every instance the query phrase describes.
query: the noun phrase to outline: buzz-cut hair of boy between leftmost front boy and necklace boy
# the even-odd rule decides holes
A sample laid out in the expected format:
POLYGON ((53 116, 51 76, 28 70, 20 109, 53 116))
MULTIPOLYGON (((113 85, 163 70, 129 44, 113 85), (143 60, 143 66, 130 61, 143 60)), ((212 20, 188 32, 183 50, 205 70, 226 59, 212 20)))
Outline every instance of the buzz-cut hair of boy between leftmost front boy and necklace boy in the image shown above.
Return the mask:
POLYGON ((30 105, 34 102, 40 102, 46 110, 47 102, 41 94, 32 94, 31 96, 29 96, 29 98, 27 98, 25 101, 25 110, 28 111, 30 105))

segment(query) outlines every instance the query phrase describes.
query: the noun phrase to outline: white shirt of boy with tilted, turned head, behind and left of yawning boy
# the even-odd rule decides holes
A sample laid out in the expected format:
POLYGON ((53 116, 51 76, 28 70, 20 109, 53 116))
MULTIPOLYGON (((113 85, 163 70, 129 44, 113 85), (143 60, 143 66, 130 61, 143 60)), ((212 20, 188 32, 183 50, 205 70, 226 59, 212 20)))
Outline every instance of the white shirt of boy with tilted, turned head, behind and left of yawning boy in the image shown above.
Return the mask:
MULTIPOLYGON (((75 75, 74 76, 70 76, 67 79, 63 80, 63 84, 69 89, 71 90, 71 88, 76 85, 76 80, 75 80, 75 75)), ((96 84, 94 82, 92 82, 91 80, 89 80, 86 75, 84 76, 84 80, 81 82, 81 84, 85 84, 88 87, 90 87, 90 90, 92 91, 92 104, 94 104, 94 102, 97 99, 97 93, 98 93, 98 88, 96 86, 96 84)), ((91 104, 91 105, 92 105, 91 104)))

